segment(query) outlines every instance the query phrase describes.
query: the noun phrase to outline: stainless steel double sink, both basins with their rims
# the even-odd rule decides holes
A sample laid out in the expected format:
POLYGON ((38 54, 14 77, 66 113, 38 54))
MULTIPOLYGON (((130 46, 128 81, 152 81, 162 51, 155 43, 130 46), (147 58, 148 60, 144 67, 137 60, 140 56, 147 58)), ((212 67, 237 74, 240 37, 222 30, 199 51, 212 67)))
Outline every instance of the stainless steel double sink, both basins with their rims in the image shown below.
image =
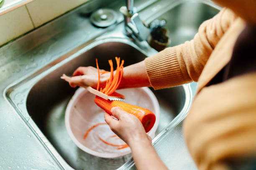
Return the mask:
MULTIPOLYGON (((180 1, 170 5, 167 11, 157 16, 166 20, 171 45, 178 45, 193 38, 204 20, 212 18, 218 9, 204 1, 180 1)), ((154 18, 156 19, 156 18, 154 18)), ((150 23, 152 18, 146 19, 150 23)), ((117 25, 123 28, 123 23, 117 25)), ((113 30, 115 33, 116 30, 113 30)), ((108 60, 120 57, 125 66, 144 60, 156 53, 151 47, 141 47, 128 37, 120 34, 105 35, 92 40, 87 45, 65 57, 57 59, 26 79, 8 87, 6 97, 20 117, 26 122, 38 141, 51 155, 60 169, 118 169, 131 155, 121 158, 97 158, 80 150, 69 138, 64 124, 65 109, 77 88, 71 88, 60 79, 63 73, 72 75, 79 66, 96 66, 95 58, 100 61, 100 68, 109 70, 108 60), (46 69, 47 68, 47 69, 46 69)), ((160 121, 153 139, 158 139, 181 122, 192 102, 192 90, 189 85, 182 85, 163 90, 151 89, 160 105, 160 121)), ((125 166, 121 168, 125 169, 125 166)), ((120 169, 121 169, 120 168, 120 169)))

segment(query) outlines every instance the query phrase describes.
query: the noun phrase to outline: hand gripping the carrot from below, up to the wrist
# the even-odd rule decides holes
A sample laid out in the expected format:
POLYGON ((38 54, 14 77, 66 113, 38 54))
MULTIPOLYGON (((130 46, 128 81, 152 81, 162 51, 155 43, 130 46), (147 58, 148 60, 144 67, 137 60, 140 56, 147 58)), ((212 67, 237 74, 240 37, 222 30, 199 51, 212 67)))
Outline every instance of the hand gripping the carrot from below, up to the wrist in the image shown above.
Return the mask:
POLYGON ((130 147, 141 142, 151 144, 151 138, 146 134, 143 125, 136 116, 125 112, 120 107, 113 107, 111 112, 118 120, 105 113, 105 121, 110 126, 110 129, 125 143, 130 147))

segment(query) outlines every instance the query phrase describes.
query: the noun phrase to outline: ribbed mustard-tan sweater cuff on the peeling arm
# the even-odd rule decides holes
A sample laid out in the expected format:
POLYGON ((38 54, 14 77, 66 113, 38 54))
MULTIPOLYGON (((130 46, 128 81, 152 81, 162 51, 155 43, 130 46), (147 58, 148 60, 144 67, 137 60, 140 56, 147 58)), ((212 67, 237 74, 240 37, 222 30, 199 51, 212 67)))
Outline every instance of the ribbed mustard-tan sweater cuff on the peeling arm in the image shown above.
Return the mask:
POLYGON ((184 83, 175 47, 166 48, 156 55, 147 57, 145 66, 151 86, 155 90, 184 83))

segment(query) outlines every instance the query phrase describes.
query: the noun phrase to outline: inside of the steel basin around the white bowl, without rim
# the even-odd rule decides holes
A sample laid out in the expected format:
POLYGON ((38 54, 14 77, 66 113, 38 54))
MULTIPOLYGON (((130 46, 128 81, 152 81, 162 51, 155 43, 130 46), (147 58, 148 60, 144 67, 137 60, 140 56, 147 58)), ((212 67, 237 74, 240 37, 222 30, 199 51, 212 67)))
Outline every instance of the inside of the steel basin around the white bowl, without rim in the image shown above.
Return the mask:
MULTIPOLYGON (((72 74, 79 66, 95 66, 95 58, 100 61, 100 68, 109 70, 108 60, 115 56, 125 60, 125 65, 142 61, 146 55, 123 42, 105 42, 78 55, 73 60, 61 65, 31 88, 26 102, 28 114, 41 132, 54 146, 64 160, 74 169, 116 169, 123 165, 131 155, 118 159, 97 158, 84 153, 72 143, 64 125, 67 103, 76 89, 60 79, 63 73, 72 74)), ((156 134, 182 110, 185 104, 183 86, 154 91, 160 104, 160 122, 156 134)))

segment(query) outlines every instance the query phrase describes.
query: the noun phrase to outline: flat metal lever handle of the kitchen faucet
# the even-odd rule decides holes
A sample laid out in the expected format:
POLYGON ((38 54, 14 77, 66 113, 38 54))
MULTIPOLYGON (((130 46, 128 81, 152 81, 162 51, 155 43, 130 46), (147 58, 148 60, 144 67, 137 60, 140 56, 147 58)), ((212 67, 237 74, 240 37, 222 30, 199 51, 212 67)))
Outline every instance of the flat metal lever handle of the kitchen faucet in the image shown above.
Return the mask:
POLYGON ((150 35, 150 29, 146 27, 143 22, 141 21, 138 13, 134 14, 131 17, 131 23, 136 27, 138 32, 138 39, 139 40, 147 40, 148 36, 150 35))

